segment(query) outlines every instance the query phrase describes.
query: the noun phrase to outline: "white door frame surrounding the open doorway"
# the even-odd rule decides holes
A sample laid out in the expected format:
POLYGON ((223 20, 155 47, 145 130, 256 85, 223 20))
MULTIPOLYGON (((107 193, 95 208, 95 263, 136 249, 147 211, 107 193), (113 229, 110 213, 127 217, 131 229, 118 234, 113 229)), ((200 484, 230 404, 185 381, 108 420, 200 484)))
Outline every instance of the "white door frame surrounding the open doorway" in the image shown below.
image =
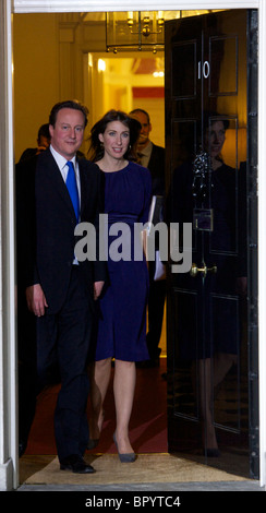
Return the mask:
MULTIPOLYGON (((0 490, 17 488, 15 241, 13 195, 12 12, 99 12, 132 9, 129 0, 2 0, 0 12, 0 490)), ((137 11, 161 2, 137 0, 137 11)), ((265 0, 167 0, 164 10, 258 9, 258 355, 261 486, 266 485, 266 2, 265 0), (261 314, 262 312, 262 314, 261 314)))

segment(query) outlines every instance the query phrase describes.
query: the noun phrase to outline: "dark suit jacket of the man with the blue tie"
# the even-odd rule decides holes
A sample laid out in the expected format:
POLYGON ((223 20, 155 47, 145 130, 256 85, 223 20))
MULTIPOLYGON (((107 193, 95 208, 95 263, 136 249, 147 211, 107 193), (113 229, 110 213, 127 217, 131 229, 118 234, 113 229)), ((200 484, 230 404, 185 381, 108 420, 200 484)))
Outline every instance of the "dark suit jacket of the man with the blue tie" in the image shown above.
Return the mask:
MULTIPOLYGON (((98 219, 101 210, 101 174, 95 164, 78 159, 81 178, 81 222, 92 223, 98 242, 98 219)), ((24 165, 19 179, 17 228, 23 230, 24 246, 20 261, 24 265, 23 285, 39 283, 48 312, 56 313, 63 305, 77 241, 74 236, 75 214, 57 163, 47 150, 32 164, 24 165), (23 181, 23 184, 22 184, 23 181), (23 193, 23 194, 22 194, 23 193)), ((20 240, 20 236, 19 236, 20 240)), ((106 279, 105 262, 80 262, 84 284, 93 301, 94 282, 106 279)))

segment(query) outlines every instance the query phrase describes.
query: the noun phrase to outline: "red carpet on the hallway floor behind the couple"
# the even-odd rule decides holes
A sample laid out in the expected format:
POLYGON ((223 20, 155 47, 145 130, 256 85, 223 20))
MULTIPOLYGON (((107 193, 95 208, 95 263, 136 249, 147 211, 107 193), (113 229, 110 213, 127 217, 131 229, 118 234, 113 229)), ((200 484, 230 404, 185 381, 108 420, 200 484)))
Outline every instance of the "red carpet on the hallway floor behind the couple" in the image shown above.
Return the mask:
MULTIPOLYGON (((160 367, 137 369, 134 406, 130 422, 130 438, 136 453, 166 453, 167 446, 167 384, 166 358, 160 367)), ((53 437, 53 410, 59 385, 44 391, 37 403, 25 454, 57 454, 53 437)), ((89 409, 89 408, 88 408, 89 409)), ((89 411, 88 411, 89 415, 89 411)), ((97 453, 117 453, 112 441, 116 429, 112 381, 105 402, 105 422, 97 453)))

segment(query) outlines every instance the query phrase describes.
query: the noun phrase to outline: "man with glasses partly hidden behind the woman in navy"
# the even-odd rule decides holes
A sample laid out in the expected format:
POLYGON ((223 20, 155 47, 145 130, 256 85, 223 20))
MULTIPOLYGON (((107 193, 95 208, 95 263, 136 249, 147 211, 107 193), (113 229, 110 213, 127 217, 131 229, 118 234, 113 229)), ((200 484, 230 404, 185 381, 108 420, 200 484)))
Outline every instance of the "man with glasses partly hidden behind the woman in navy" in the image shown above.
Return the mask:
MULTIPOLYGON (((131 116, 142 124, 137 141, 137 154, 140 164, 147 167, 152 175, 153 195, 165 195, 165 148, 154 144, 149 139, 152 123, 148 112, 143 109, 134 109, 131 116)), ((161 220, 161 219, 160 219, 161 220)), ((157 220, 159 222, 159 219, 157 220)), ((159 366, 159 348, 164 308, 166 298, 166 279, 154 281, 155 262, 149 261, 149 298, 148 298, 148 333, 147 347, 150 359, 143 362, 143 367, 159 366)))

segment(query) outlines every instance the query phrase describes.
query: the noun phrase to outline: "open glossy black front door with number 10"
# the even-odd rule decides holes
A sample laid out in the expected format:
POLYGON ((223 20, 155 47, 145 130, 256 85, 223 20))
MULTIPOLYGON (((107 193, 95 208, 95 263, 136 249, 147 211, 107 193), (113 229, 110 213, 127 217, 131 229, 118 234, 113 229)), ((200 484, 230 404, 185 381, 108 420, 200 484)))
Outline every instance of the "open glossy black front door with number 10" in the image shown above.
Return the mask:
POLYGON ((184 254, 192 229, 190 271, 168 273, 169 451, 257 477, 255 33, 246 10, 166 23, 166 151, 184 254))

